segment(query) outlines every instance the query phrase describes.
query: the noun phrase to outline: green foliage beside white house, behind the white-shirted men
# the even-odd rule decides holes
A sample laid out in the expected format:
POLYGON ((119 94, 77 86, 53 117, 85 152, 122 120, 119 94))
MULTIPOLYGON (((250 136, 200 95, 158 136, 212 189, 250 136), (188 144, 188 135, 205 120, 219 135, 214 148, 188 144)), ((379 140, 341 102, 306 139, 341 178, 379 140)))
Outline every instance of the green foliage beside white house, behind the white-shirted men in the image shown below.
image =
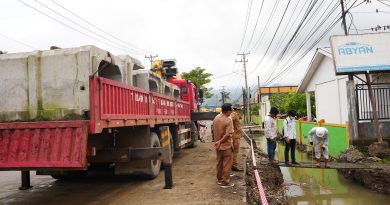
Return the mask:
MULTIPOLYGON (((306 110, 306 94, 305 93, 277 93, 272 94, 271 106, 275 106, 279 109, 280 113, 286 113, 289 110, 295 110, 301 116, 307 115, 306 110)), ((315 96, 314 93, 310 94, 311 101, 311 113, 315 113, 315 96)))

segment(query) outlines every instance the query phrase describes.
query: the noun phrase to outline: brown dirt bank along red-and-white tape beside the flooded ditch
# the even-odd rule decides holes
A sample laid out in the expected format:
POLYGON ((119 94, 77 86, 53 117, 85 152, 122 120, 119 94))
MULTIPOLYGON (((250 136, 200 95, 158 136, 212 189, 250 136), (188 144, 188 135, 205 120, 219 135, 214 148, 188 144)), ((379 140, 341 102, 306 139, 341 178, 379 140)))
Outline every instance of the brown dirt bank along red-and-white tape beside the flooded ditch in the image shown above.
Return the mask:
MULTIPOLYGON (((256 149, 256 158, 264 158, 265 154, 256 149)), ((246 168, 246 187, 247 187, 247 203, 261 204, 259 190, 257 188, 256 178, 253 171, 253 163, 251 156, 247 159, 246 168)), ((283 184, 283 175, 280 168, 276 165, 258 164, 257 170, 260 174, 261 183, 267 197, 268 204, 284 205, 288 204, 288 199, 285 196, 285 186, 283 184)))

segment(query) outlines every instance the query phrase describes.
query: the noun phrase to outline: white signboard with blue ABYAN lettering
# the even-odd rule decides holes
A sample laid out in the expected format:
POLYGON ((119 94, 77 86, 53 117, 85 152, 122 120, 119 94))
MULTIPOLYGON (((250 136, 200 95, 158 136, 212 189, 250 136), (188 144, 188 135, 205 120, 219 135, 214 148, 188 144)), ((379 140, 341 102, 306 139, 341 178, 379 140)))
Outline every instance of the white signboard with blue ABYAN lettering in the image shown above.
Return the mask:
POLYGON ((390 33, 331 36, 336 75, 390 71, 390 33))

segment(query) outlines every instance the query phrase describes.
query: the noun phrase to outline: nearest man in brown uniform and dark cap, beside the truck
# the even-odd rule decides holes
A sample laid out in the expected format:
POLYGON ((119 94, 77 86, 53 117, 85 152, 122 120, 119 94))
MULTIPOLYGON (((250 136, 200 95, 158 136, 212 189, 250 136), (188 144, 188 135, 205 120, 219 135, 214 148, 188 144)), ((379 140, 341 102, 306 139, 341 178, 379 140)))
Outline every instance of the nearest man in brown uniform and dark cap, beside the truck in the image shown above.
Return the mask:
POLYGON ((214 148, 217 152, 217 183, 222 188, 233 187, 230 182, 230 172, 233 164, 233 122, 229 118, 232 104, 224 103, 222 113, 218 114, 214 124, 214 148))

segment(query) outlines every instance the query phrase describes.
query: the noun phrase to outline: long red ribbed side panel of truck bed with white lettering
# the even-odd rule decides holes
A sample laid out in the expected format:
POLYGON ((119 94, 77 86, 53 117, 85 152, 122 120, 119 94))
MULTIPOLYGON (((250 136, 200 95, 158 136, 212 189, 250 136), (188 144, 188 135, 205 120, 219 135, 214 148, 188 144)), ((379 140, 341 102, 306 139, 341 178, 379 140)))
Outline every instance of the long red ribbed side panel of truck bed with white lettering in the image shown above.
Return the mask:
POLYGON ((190 121, 189 103, 113 80, 90 80, 90 132, 104 128, 190 121))

